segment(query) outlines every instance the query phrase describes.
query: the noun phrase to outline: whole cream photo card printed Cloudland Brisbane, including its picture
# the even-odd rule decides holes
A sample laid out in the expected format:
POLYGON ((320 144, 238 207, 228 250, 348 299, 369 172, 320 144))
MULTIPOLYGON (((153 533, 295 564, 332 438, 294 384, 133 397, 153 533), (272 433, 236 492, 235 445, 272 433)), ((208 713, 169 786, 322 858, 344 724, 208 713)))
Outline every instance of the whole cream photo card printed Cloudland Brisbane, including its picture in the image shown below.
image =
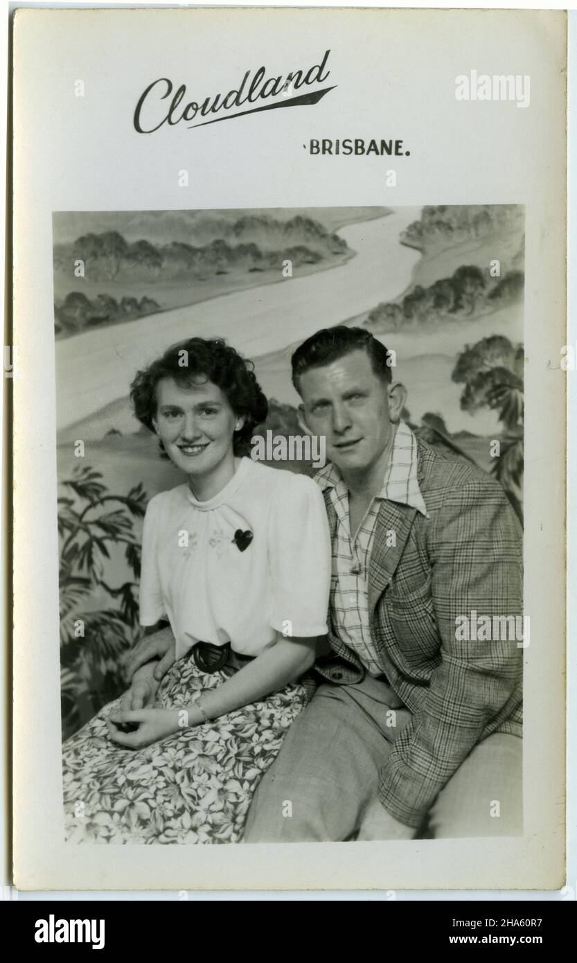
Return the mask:
MULTIPOLYGON (((16 11, 19 889, 563 886, 565 65, 566 16, 558 12, 16 11), (302 525, 297 494, 315 501, 312 482, 330 467, 327 451, 336 465, 337 436, 344 448, 379 443, 366 421, 373 396, 331 396, 330 417, 327 399, 315 411, 308 403, 310 385, 319 384, 311 372, 325 377, 343 357, 350 364, 350 353, 325 365, 309 360, 291 378, 294 352, 334 325, 369 332, 386 348, 389 372, 377 381, 391 386, 382 388, 387 410, 398 413, 389 453, 397 474, 391 469, 370 502, 382 499, 396 520, 382 531, 384 568, 377 569, 379 519, 373 541, 361 534, 346 542, 346 551, 365 555, 352 555, 344 574, 333 542, 331 631, 305 707, 302 684, 289 680, 287 689, 288 677, 258 697, 247 682, 249 703, 222 703, 192 728, 187 716, 186 733, 155 729, 146 745, 124 731, 122 746, 108 716, 113 703, 120 711, 127 656, 144 627, 164 616, 176 639, 178 658, 158 690, 168 714, 192 705, 206 669, 196 648, 225 641, 234 680, 273 642, 294 660, 286 639, 313 632, 306 613, 324 596, 310 586, 330 559, 322 557, 324 530, 317 537, 302 525), (202 503, 212 489, 202 497, 194 481, 201 484, 202 472, 189 465, 206 457, 203 445, 222 443, 204 423, 198 429, 215 409, 204 400, 189 417, 186 404, 157 405, 151 421, 135 394, 139 372, 141 386, 149 384, 159 358, 171 346, 197 348, 195 338, 224 339, 249 359, 268 401, 249 451, 266 472, 249 461, 242 472, 270 479, 275 490, 281 476, 272 469, 292 474, 282 476, 286 497, 265 527, 257 508, 269 508, 256 504, 250 485, 242 504, 226 506, 236 520, 216 506, 215 526, 205 525, 202 503), (161 422, 189 417, 176 440, 159 427, 159 411, 161 422), (322 430, 311 427, 323 417, 322 430), (415 446, 408 461, 404 437, 415 446), (442 498, 425 462, 446 479, 442 498), (292 477, 302 473, 306 483, 292 477), (187 485, 192 514, 182 517, 193 521, 186 531, 185 521, 174 525, 186 536, 178 572, 188 572, 186 585, 197 591, 194 604, 187 601, 189 623, 174 608, 176 569, 159 573, 162 600, 142 588, 152 585, 153 516, 158 539, 169 531, 160 507, 168 510, 168 493, 184 498, 187 485), (497 502, 507 525, 505 514, 494 521, 497 502), (521 521, 515 555, 504 533, 520 532, 521 521), (285 559, 286 618, 282 607, 270 614, 278 591, 250 595, 265 528, 275 532, 275 571, 285 559), (294 553, 288 564, 285 545, 294 553), (438 573, 441 556, 451 567, 451 552, 459 566, 447 588, 438 573), (503 572, 522 562, 523 608, 510 612, 499 601, 514 594, 503 572), (234 581, 241 568, 245 582, 234 581), (481 570, 491 590, 476 596, 481 570), (347 606, 361 612, 371 597, 379 616, 360 614, 352 628, 347 606), (483 602, 471 603, 477 597, 492 617, 483 602), (290 598, 301 603, 296 614, 290 598), (453 634, 439 628, 445 610, 459 612, 453 634), (259 636, 261 622, 271 638, 259 636), (489 652, 501 654, 496 667, 489 652), (334 667, 339 658, 345 675, 334 667), (356 674, 347 675, 351 665, 356 674), (365 710, 371 704, 370 727, 380 730, 373 755, 355 693, 365 710), (335 702, 343 715, 330 729, 335 702), (319 742, 309 739, 314 727, 298 742, 313 712, 319 742), (397 714, 409 728, 395 749, 397 714), (469 729, 474 736, 463 735, 469 729), (278 761, 289 758, 289 745, 287 776, 278 761), (354 768, 365 750, 366 767, 354 768), (387 770, 389 753, 398 777, 387 770), (282 792, 267 814, 271 774, 282 792)), ((354 357, 369 363, 364 350, 354 357)), ((218 367, 209 378, 217 394, 218 367)), ((193 389, 178 390, 189 397, 193 389)), ((223 391, 226 411, 231 396, 223 391)), ((244 417, 232 418, 231 432, 244 417)), ((349 481, 353 520, 357 476, 348 474, 348 457, 340 479, 349 481)), ((334 511, 330 485, 321 487, 334 511)), ((366 517, 358 517, 363 526, 366 517)), ((206 706, 218 706, 211 679, 202 691, 214 689, 206 706)))

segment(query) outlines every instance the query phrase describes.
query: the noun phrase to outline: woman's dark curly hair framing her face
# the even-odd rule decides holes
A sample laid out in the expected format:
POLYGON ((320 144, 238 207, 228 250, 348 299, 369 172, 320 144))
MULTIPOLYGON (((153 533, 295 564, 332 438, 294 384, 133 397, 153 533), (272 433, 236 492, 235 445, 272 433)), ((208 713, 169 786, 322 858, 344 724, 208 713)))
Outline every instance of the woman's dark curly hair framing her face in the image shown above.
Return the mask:
MULTIPOLYGON (((231 348, 222 338, 189 338, 172 345, 162 357, 137 372, 130 385, 130 400, 138 420, 154 431, 156 385, 163 377, 172 378, 180 387, 190 387, 198 377, 206 377, 223 391, 237 417, 245 423, 234 432, 235 455, 249 452, 252 431, 265 421, 269 403, 254 377, 254 365, 231 348), (183 365, 183 361, 187 363, 183 365)), ((168 458, 159 438, 161 457, 168 458)))

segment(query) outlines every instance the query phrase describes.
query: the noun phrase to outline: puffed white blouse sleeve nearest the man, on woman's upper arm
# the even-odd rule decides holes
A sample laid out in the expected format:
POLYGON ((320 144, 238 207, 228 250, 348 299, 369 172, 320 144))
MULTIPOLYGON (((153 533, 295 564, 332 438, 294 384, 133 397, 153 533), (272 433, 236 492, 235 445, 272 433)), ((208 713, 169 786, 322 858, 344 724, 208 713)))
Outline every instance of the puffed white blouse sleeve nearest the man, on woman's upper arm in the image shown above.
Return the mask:
POLYGON ((289 474, 279 484, 269 519, 270 624, 286 638, 327 633, 330 535, 321 489, 289 474))

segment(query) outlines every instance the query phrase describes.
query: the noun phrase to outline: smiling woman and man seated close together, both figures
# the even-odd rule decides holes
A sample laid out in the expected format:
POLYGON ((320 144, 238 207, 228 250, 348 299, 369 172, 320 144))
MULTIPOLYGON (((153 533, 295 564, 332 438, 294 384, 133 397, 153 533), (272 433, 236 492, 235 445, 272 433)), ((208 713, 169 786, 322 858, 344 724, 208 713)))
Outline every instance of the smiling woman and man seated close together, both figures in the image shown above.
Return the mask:
POLYGON ((368 331, 318 331, 292 365, 330 459, 312 478, 244 455, 267 402, 222 341, 132 384, 187 481, 146 508, 131 687, 64 745, 70 841, 522 832, 522 649, 456 631, 521 613, 516 516, 401 421, 368 331))

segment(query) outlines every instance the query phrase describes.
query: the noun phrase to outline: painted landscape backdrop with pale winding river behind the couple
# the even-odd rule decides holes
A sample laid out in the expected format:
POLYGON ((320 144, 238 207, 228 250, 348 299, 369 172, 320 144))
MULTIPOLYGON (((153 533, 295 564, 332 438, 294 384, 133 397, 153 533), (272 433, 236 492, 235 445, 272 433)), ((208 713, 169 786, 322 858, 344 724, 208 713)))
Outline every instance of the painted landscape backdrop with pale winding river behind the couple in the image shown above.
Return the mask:
POLYGON ((259 431, 299 434, 292 351, 368 327, 408 423, 492 472, 521 516, 522 207, 66 212, 53 237, 65 738, 124 688, 144 508, 183 481, 128 403, 174 342, 226 338, 270 400, 259 431))

